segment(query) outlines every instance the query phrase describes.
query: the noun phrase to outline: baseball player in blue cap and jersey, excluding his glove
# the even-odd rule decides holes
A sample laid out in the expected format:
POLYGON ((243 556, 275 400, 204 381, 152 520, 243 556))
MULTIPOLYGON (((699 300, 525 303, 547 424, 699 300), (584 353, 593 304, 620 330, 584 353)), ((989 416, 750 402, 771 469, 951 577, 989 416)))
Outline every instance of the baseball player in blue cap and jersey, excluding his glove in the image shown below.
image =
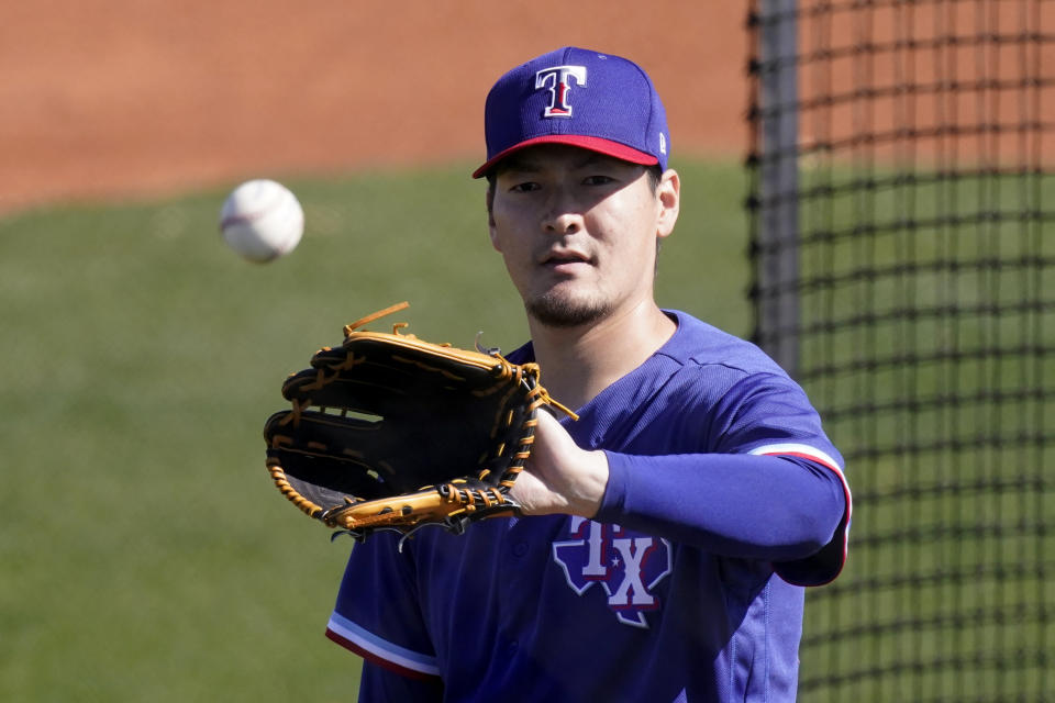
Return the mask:
POLYGON ((523 517, 355 546, 327 636, 366 660, 359 700, 793 700, 849 490, 774 361, 654 301, 680 181, 651 79, 565 47, 485 115, 474 176, 531 333, 510 359, 579 419, 541 413, 523 517))

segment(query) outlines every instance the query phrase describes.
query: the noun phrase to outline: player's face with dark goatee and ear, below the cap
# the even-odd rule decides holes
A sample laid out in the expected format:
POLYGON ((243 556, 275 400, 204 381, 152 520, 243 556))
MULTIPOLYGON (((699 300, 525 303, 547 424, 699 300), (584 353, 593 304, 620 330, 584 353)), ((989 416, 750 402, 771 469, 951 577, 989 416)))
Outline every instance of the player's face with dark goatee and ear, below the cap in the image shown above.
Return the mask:
POLYGON ((652 304, 656 238, 677 220, 678 178, 564 145, 529 147, 499 166, 491 243, 528 313, 557 327, 652 304))

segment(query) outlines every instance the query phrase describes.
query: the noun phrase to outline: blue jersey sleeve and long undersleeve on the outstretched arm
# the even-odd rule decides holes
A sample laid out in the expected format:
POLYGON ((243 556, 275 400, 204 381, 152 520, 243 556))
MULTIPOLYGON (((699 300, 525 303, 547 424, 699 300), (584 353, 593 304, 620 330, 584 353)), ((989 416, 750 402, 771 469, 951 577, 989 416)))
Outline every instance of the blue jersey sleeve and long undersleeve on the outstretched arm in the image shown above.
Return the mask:
POLYGON ((834 579, 846 556, 851 494, 804 392, 785 377, 754 375, 711 406, 678 411, 690 415, 678 422, 693 425, 699 445, 663 456, 606 450, 610 478, 597 520, 766 559, 798 585, 834 579))

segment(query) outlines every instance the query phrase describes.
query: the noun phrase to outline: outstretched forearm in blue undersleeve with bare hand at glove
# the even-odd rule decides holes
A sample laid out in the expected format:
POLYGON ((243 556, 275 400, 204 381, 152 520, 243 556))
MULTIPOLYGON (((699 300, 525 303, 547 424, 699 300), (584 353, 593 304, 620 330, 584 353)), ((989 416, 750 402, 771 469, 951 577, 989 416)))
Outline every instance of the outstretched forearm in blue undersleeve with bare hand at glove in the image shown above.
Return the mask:
POLYGON ((581 515, 714 554, 771 560, 815 553, 846 507, 839 476, 810 459, 590 451, 547 413, 540 413, 512 496, 529 515, 581 515))

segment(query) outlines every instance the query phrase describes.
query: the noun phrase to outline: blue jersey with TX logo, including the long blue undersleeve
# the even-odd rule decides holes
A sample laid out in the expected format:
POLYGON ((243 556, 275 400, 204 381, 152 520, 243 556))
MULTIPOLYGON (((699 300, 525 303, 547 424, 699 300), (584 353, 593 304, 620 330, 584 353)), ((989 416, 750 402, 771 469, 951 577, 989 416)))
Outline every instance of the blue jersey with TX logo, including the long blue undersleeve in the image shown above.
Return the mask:
POLYGON ((668 314, 674 336, 565 423, 608 455, 593 520, 353 548, 327 636, 377 665, 362 701, 795 699, 802 585, 845 558, 842 459, 760 350, 668 314))

